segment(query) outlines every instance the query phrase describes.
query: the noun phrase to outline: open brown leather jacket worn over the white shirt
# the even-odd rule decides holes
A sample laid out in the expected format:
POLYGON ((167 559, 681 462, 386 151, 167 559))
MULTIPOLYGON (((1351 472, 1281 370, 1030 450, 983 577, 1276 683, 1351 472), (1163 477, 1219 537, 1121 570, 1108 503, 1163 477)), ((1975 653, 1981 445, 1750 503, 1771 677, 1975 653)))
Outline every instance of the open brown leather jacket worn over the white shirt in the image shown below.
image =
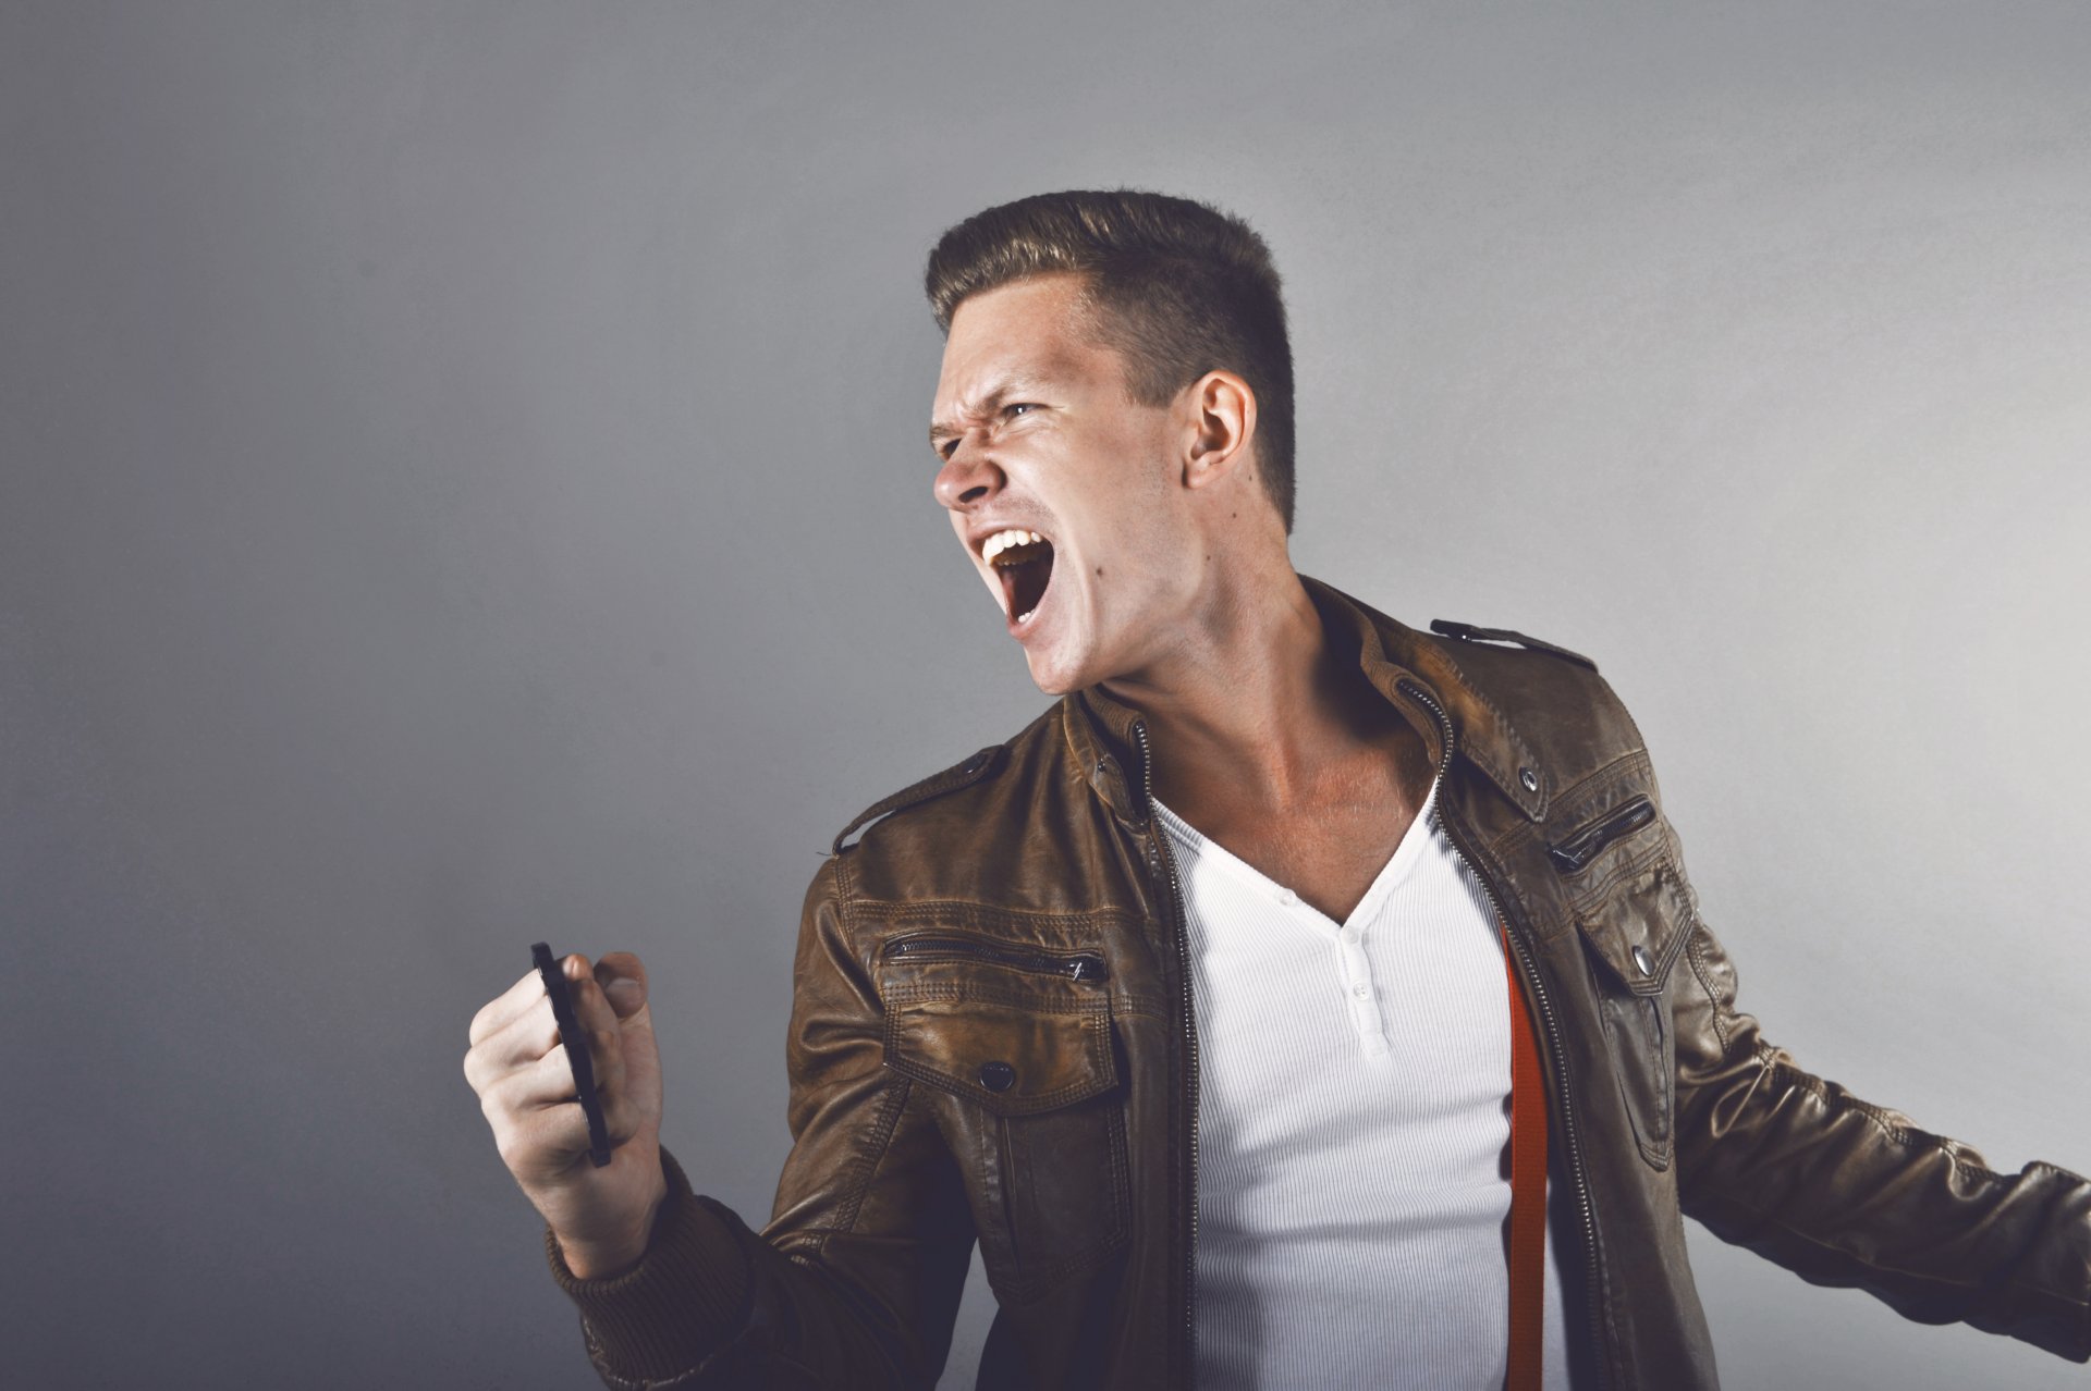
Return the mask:
MULTIPOLYGON (((1579 1385, 1717 1385, 1683 1216, 1913 1320, 2091 1360, 2091 1184, 1993 1174, 1761 1038, 1587 660, 1307 587, 1432 746, 1445 829, 1510 923, 1579 1385)), ((634 1272, 575 1280, 548 1234, 606 1385, 933 1385, 974 1241, 999 1301, 983 1387, 1192 1385, 1198 1036, 1150 758, 1092 689, 836 840, 799 934, 769 1224, 667 1157, 634 1272)))

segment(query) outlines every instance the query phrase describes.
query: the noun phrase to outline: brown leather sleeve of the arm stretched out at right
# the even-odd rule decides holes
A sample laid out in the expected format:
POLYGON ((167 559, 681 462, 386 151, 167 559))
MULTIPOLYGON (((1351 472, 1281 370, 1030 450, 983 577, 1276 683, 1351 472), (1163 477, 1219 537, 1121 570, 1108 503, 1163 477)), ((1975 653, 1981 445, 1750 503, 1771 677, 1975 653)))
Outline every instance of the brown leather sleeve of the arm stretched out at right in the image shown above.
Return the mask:
MULTIPOLYGON (((2091 1360, 2091 1184, 1995 1174, 1800 1069, 1736 1009, 1736 967, 1694 919, 1675 992, 1679 1201, 1717 1236, 1905 1318, 1968 1322, 2091 1360)), ((2074 1092, 2058 1065, 2058 1090, 2074 1092)))

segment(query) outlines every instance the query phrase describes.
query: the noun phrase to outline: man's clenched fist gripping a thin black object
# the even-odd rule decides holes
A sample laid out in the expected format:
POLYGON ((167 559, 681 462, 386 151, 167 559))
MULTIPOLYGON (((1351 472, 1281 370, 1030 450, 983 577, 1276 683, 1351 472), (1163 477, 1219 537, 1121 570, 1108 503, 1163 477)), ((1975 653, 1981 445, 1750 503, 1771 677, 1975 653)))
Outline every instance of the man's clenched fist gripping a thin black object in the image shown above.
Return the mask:
POLYGON ((661 1176, 661 1053, 646 1003, 646 967, 631 952, 558 963, 588 1030, 611 1163, 588 1159, 588 1117, 552 1019, 552 996, 529 971, 473 1017, 464 1080, 493 1128, 502 1161, 558 1236, 567 1268, 602 1278, 646 1253, 667 1197, 661 1176))

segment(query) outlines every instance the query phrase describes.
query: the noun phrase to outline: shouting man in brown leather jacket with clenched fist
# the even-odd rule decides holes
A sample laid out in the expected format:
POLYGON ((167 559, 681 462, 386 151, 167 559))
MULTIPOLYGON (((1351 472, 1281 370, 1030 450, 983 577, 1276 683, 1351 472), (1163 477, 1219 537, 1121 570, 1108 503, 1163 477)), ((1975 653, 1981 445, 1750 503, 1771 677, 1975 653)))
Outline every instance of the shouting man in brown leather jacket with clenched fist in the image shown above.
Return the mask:
POLYGON ((1294 574, 1255 232, 1046 194, 928 294, 937 501, 1060 702, 836 838, 759 1234, 659 1149, 636 957, 565 961, 606 1168, 537 977, 479 1011, 606 1385, 930 1385, 976 1241, 983 1387, 1713 1387, 1681 1213, 2091 1358, 2091 1184, 1759 1036, 1587 660, 1294 574))

